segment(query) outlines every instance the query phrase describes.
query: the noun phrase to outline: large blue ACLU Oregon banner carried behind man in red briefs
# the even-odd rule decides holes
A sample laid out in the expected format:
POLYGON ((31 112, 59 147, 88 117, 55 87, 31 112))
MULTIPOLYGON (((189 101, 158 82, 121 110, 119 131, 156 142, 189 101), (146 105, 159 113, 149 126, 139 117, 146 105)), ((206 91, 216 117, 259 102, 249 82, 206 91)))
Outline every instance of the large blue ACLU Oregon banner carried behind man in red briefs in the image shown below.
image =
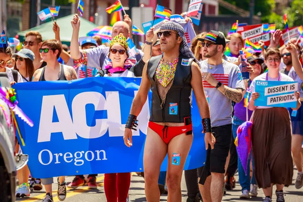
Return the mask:
MULTIPOLYGON (((94 77, 15 84, 19 106, 34 122, 29 127, 17 120, 25 141, 21 148, 29 155, 31 175, 47 178, 143 172, 151 92, 137 118, 139 125, 133 131, 133 146, 129 148, 123 141, 140 82, 141 78, 94 77)), ((192 122, 194 138, 185 170, 203 166, 206 159, 201 117, 195 101, 192 122)), ((166 170, 167 161, 166 157, 162 171, 166 170)))

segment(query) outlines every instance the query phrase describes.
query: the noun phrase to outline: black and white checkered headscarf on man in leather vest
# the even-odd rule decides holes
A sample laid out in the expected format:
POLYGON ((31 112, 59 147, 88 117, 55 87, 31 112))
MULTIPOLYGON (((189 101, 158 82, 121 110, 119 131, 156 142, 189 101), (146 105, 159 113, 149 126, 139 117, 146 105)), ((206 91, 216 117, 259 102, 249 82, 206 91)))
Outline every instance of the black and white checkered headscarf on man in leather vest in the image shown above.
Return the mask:
POLYGON ((195 59, 193 53, 191 52, 191 50, 188 46, 188 43, 187 43, 187 40, 185 37, 185 31, 184 31, 183 27, 181 25, 179 25, 178 23, 168 21, 160 27, 160 30, 165 30, 165 29, 174 30, 174 31, 178 32, 179 36, 182 38, 182 42, 180 44, 180 55, 185 56, 187 58, 194 58, 194 62, 196 62, 198 64, 198 66, 200 67, 198 60, 195 59))

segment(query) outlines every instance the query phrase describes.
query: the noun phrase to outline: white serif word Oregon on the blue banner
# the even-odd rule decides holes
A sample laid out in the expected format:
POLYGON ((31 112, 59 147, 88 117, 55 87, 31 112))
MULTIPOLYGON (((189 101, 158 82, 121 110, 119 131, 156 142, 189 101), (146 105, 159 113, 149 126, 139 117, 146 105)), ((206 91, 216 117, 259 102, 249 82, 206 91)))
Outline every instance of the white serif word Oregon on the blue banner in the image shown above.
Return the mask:
POLYGON ((86 160, 87 162, 90 162, 93 160, 94 161, 107 160, 105 150, 95 150, 95 152, 86 151, 85 153, 84 153, 84 151, 76 151, 74 155, 70 152, 67 152, 65 154, 62 154, 62 153, 54 154, 54 156, 53 156, 52 151, 50 151, 48 149, 41 150, 39 153, 38 159, 39 159, 40 164, 42 164, 44 166, 47 166, 47 165, 53 163, 53 161, 55 161, 55 164, 61 164, 62 161, 66 162, 66 163, 71 163, 72 161, 74 161, 75 166, 82 166, 84 164, 84 160, 86 160), (48 156, 48 158, 46 158, 46 160, 44 159, 44 161, 42 160, 43 153, 44 153, 44 155, 43 155, 44 157, 45 157, 45 155, 48 156), (101 153, 101 157, 103 157, 102 159, 100 159, 100 153, 101 153), (82 158, 83 154, 84 154, 84 158, 82 158))

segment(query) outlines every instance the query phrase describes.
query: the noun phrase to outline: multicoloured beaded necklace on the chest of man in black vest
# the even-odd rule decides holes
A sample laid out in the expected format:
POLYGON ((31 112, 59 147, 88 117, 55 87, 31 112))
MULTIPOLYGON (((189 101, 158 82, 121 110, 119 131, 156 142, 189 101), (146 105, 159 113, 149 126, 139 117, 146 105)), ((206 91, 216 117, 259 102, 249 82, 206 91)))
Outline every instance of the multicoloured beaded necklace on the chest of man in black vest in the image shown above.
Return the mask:
POLYGON ((161 58, 156 70, 156 78, 163 87, 166 87, 174 78, 178 61, 179 58, 176 58, 174 61, 168 62, 164 61, 163 58, 161 58))

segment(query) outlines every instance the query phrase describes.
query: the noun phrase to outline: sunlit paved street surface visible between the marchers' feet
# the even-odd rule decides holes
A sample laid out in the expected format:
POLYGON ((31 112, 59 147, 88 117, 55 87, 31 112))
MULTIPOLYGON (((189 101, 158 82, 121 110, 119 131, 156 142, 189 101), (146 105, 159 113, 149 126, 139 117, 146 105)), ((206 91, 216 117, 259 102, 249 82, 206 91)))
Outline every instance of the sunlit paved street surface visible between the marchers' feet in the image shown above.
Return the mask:
MULTIPOLYGON (((294 171, 293 176, 293 183, 296 177, 296 170, 294 171)), ((73 177, 67 177, 67 182, 71 182, 73 177)), ((238 176, 236 176, 238 180, 238 176)), ((55 182, 57 180, 54 179, 55 182)), ((67 198, 65 199, 66 202, 92 202, 92 201, 100 201, 104 202, 107 201, 104 193, 104 175, 98 175, 97 182, 98 182, 98 189, 88 189, 87 186, 78 187, 78 189, 68 189, 67 198)), ((129 190, 129 197, 131 201, 146 201, 145 194, 144 194, 144 179, 141 176, 137 176, 133 174, 131 177, 131 185, 129 190)), ((41 202, 42 198, 44 197, 45 193, 42 189, 41 191, 35 191, 31 193, 31 197, 28 198, 17 198, 16 201, 27 201, 27 202, 41 202)), ((274 188, 275 191, 275 188, 274 188)), ((292 184, 288 188, 284 189, 286 196, 285 200, 287 202, 300 202, 303 201, 303 187, 301 189, 295 189, 294 185, 292 184)), ((240 185, 237 183, 236 188, 233 191, 228 191, 227 194, 223 197, 223 201, 245 201, 244 199, 240 199, 239 195, 241 194, 240 185)), ((53 195, 54 195, 54 202, 58 202, 57 198, 57 183, 53 185, 53 195)), ((250 201, 263 201, 264 194, 262 190, 259 190, 258 197, 251 198, 250 201)), ((182 179, 182 201, 186 201, 187 192, 186 192, 186 185, 185 179, 183 175, 182 179)), ((166 201, 167 196, 161 196, 160 201, 166 201)), ((247 200, 249 201, 249 200, 247 200)), ((275 195, 273 195, 273 201, 276 201, 275 195)))

